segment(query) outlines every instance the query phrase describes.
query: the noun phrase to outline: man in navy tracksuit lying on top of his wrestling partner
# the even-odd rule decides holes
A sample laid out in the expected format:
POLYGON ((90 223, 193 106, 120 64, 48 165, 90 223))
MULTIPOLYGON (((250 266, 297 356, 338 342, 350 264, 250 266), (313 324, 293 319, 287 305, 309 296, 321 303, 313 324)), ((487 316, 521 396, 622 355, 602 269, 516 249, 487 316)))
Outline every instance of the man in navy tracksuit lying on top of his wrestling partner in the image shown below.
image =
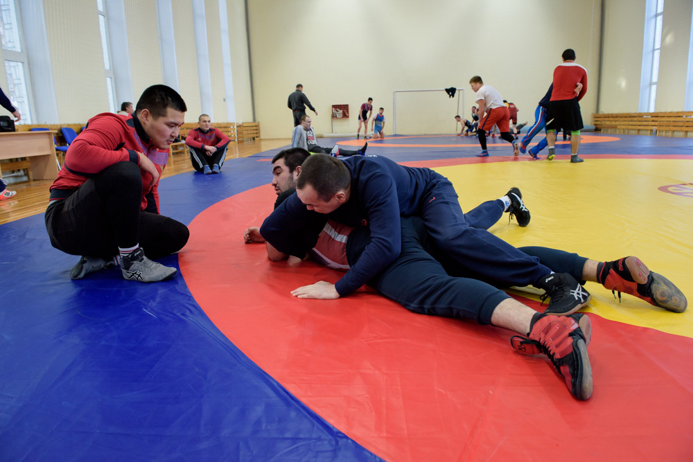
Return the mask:
MULTIPOLYGON (((590 294, 570 274, 552 274, 538 258, 486 229, 469 226, 453 184, 428 168, 400 166, 385 157, 340 161, 314 154, 301 166, 297 194, 267 217, 261 234, 270 242, 282 233, 299 235, 306 226, 323 220, 322 213, 350 226, 367 224, 371 243, 335 285, 306 286, 297 295, 336 299, 357 290, 399 255, 400 217, 420 216, 435 246, 482 281, 500 287, 540 287, 551 297, 547 312, 554 314, 572 314, 590 300, 590 294)), ((305 255, 300 245, 286 241, 277 250, 305 255)))

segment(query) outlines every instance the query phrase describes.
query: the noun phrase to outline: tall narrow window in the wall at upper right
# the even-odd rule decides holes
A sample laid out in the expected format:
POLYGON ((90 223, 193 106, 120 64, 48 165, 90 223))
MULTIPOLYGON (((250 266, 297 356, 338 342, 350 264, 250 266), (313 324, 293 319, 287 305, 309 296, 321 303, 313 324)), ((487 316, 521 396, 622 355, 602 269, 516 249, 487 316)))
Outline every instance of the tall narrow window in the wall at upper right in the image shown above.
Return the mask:
POLYGON ((645 8, 640 104, 638 109, 640 112, 654 112, 657 100, 659 58, 662 51, 664 0, 647 0, 645 8))

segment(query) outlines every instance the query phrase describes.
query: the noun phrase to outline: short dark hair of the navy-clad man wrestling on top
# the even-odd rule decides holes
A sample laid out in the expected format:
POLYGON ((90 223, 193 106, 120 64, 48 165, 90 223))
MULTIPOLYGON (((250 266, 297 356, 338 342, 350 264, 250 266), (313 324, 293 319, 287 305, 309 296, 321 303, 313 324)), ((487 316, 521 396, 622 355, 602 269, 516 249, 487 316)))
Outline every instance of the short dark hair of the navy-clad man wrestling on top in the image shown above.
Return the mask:
POLYGON ((329 201, 340 190, 351 184, 351 173, 344 162, 329 154, 313 154, 301 166, 296 188, 310 185, 322 201, 329 201))

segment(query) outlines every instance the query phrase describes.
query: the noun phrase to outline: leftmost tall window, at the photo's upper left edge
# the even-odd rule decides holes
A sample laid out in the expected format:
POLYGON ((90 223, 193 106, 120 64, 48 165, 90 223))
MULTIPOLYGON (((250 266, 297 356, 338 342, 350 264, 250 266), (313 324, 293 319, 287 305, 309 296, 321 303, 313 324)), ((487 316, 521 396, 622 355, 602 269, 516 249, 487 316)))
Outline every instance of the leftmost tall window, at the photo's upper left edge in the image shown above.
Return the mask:
POLYGON ((6 94, 21 114, 19 123, 32 123, 26 50, 15 0, 0 0, 0 35, 7 73, 6 94))

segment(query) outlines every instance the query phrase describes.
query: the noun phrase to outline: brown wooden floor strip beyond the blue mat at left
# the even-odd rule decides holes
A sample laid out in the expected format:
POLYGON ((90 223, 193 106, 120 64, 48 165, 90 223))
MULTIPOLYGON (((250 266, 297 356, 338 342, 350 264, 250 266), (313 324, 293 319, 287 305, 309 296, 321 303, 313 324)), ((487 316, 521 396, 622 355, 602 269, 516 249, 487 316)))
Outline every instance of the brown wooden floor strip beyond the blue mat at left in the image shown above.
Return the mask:
MULTIPOLYGON (((266 139, 238 143, 230 147, 227 152, 227 160, 234 157, 248 157, 258 152, 280 148, 291 143, 290 139, 266 139)), ((176 154, 170 159, 162 178, 178 175, 179 173, 192 172, 193 166, 190 158, 183 154, 176 154)), ((9 190, 17 191, 12 199, 0 202, 0 224, 13 222, 20 218, 43 213, 48 206, 49 188, 53 181, 24 181, 10 184, 9 190)))

